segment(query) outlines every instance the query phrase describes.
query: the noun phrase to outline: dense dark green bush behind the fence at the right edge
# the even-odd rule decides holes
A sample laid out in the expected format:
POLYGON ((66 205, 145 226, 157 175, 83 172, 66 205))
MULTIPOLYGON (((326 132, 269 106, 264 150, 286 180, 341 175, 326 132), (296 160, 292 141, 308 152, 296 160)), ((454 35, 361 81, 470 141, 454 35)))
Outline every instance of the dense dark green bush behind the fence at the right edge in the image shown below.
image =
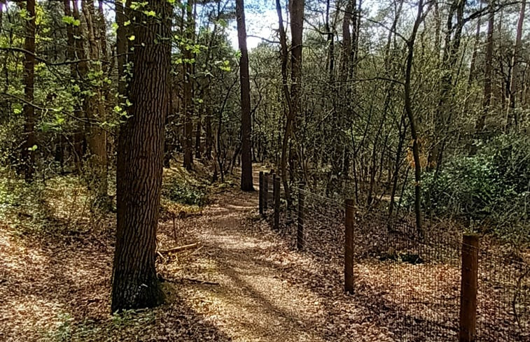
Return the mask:
MULTIPOLYGON (((530 240, 530 137, 502 135, 474 156, 453 157, 438 174, 424 173, 424 209, 451 216, 511 241, 530 240)), ((403 204, 412 208, 413 184, 403 204)))

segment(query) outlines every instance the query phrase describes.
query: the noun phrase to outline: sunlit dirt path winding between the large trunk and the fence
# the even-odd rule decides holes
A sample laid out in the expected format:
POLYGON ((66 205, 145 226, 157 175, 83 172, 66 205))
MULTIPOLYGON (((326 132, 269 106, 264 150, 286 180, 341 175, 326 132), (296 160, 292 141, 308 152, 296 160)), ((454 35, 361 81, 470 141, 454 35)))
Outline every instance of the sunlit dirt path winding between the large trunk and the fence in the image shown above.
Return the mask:
POLYGON ((286 251, 286 243, 256 221, 257 207, 257 192, 225 192, 202 217, 184 224, 203 247, 179 275, 218 285, 184 280, 179 297, 235 341, 324 341, 309 329, 318 298, 283 277, 272 254, 286 251))

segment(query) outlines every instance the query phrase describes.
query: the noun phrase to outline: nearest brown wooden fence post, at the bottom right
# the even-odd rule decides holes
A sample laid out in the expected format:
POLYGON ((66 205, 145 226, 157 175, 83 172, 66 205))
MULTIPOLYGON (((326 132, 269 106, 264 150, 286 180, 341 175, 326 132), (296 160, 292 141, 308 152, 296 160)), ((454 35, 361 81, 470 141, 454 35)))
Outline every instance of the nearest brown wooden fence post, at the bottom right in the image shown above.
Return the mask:
POLYGON ((460 342, 475 342, 477 326, 478 235, 464 234, 460 287, 460 342))

